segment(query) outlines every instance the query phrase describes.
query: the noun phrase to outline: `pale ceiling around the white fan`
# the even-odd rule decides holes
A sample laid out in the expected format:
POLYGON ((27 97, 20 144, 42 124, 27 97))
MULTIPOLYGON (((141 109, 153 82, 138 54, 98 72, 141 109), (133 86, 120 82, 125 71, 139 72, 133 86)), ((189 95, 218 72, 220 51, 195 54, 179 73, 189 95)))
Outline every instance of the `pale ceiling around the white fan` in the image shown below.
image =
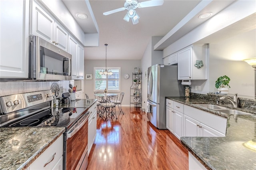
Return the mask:
MULTIPOLYGON (((139 2, 142 1, 144 0, 139 0, 139 2)), ((201 0, 164 0, 162 6, 137 8, 136 12, 140 19, 138 24, 133 25, 131 21, 123 20, 127 10, 103 15, 103 12, 123 7, 124 0, 87 0, 87 2, 86 0, 63 0, 63 2, 85 33, 99 33, 99 46, 85 47, 85 59, 105 59, 105 43, 108 44, 107 59, 141 59, 152 36, 164 37, 175 26, 177 27, 177 24, 186 23, 179 28, 180 32, 167 38, 165 45, 161 44, 159 49, 164 49, 170 42, 204 22, 205 20, 198 20, 199 14, 202 12, 217 13, 232 3, 228 0, 208 1, 211 5, 205 6, 198 12, 194 11, 194 16, 185 20, 189 16, 187 14, 191 15, 192 10, 201 3, 201 0), (86 4, 88 2, 89 6, 86 4), (93 14, 90 14, 90 10, 93 14), (88 19, 76 18, 77 12, 87 14, 88 19)))

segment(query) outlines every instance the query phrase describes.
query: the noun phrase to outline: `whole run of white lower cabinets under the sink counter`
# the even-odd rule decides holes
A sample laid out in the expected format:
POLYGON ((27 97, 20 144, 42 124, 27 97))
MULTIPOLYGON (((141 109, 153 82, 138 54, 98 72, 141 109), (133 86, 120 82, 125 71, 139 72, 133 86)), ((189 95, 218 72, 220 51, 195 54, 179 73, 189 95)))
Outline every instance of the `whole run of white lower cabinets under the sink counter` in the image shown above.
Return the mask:
POLYGON ((227 119, 166 99, 166 128, 182 136, 218 137, 226 134, 227 119))

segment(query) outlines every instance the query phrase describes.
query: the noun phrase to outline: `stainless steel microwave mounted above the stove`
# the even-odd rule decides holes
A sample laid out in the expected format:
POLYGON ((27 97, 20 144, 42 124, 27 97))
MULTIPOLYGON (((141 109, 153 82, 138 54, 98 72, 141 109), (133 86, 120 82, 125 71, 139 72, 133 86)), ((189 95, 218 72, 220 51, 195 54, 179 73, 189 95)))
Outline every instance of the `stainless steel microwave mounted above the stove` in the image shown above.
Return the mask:
POLYGON ((38 36, 29 36, 32 80, 71 80, 72 55, 38 36))

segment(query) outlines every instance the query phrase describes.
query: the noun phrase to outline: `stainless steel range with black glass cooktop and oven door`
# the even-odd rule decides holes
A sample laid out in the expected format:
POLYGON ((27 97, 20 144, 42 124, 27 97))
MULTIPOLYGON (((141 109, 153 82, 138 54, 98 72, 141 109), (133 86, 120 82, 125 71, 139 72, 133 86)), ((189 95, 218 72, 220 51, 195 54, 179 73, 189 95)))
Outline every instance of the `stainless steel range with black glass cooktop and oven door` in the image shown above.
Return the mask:
POLYGON ((53 107, 51 90, 0 97, 0 127, 65 127, 63 167, 86 169, 88 108, 94 102, 94 99, 78 99, 53 107))

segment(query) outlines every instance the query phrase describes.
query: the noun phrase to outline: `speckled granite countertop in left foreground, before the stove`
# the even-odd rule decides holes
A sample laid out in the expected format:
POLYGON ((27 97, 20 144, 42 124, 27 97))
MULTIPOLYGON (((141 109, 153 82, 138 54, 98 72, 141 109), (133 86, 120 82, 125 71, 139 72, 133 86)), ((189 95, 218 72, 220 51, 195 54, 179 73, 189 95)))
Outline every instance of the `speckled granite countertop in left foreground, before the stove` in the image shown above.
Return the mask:
POLYGON ((0 128, 0 169, 26 169, 64 131, 64 127, 0 128))

